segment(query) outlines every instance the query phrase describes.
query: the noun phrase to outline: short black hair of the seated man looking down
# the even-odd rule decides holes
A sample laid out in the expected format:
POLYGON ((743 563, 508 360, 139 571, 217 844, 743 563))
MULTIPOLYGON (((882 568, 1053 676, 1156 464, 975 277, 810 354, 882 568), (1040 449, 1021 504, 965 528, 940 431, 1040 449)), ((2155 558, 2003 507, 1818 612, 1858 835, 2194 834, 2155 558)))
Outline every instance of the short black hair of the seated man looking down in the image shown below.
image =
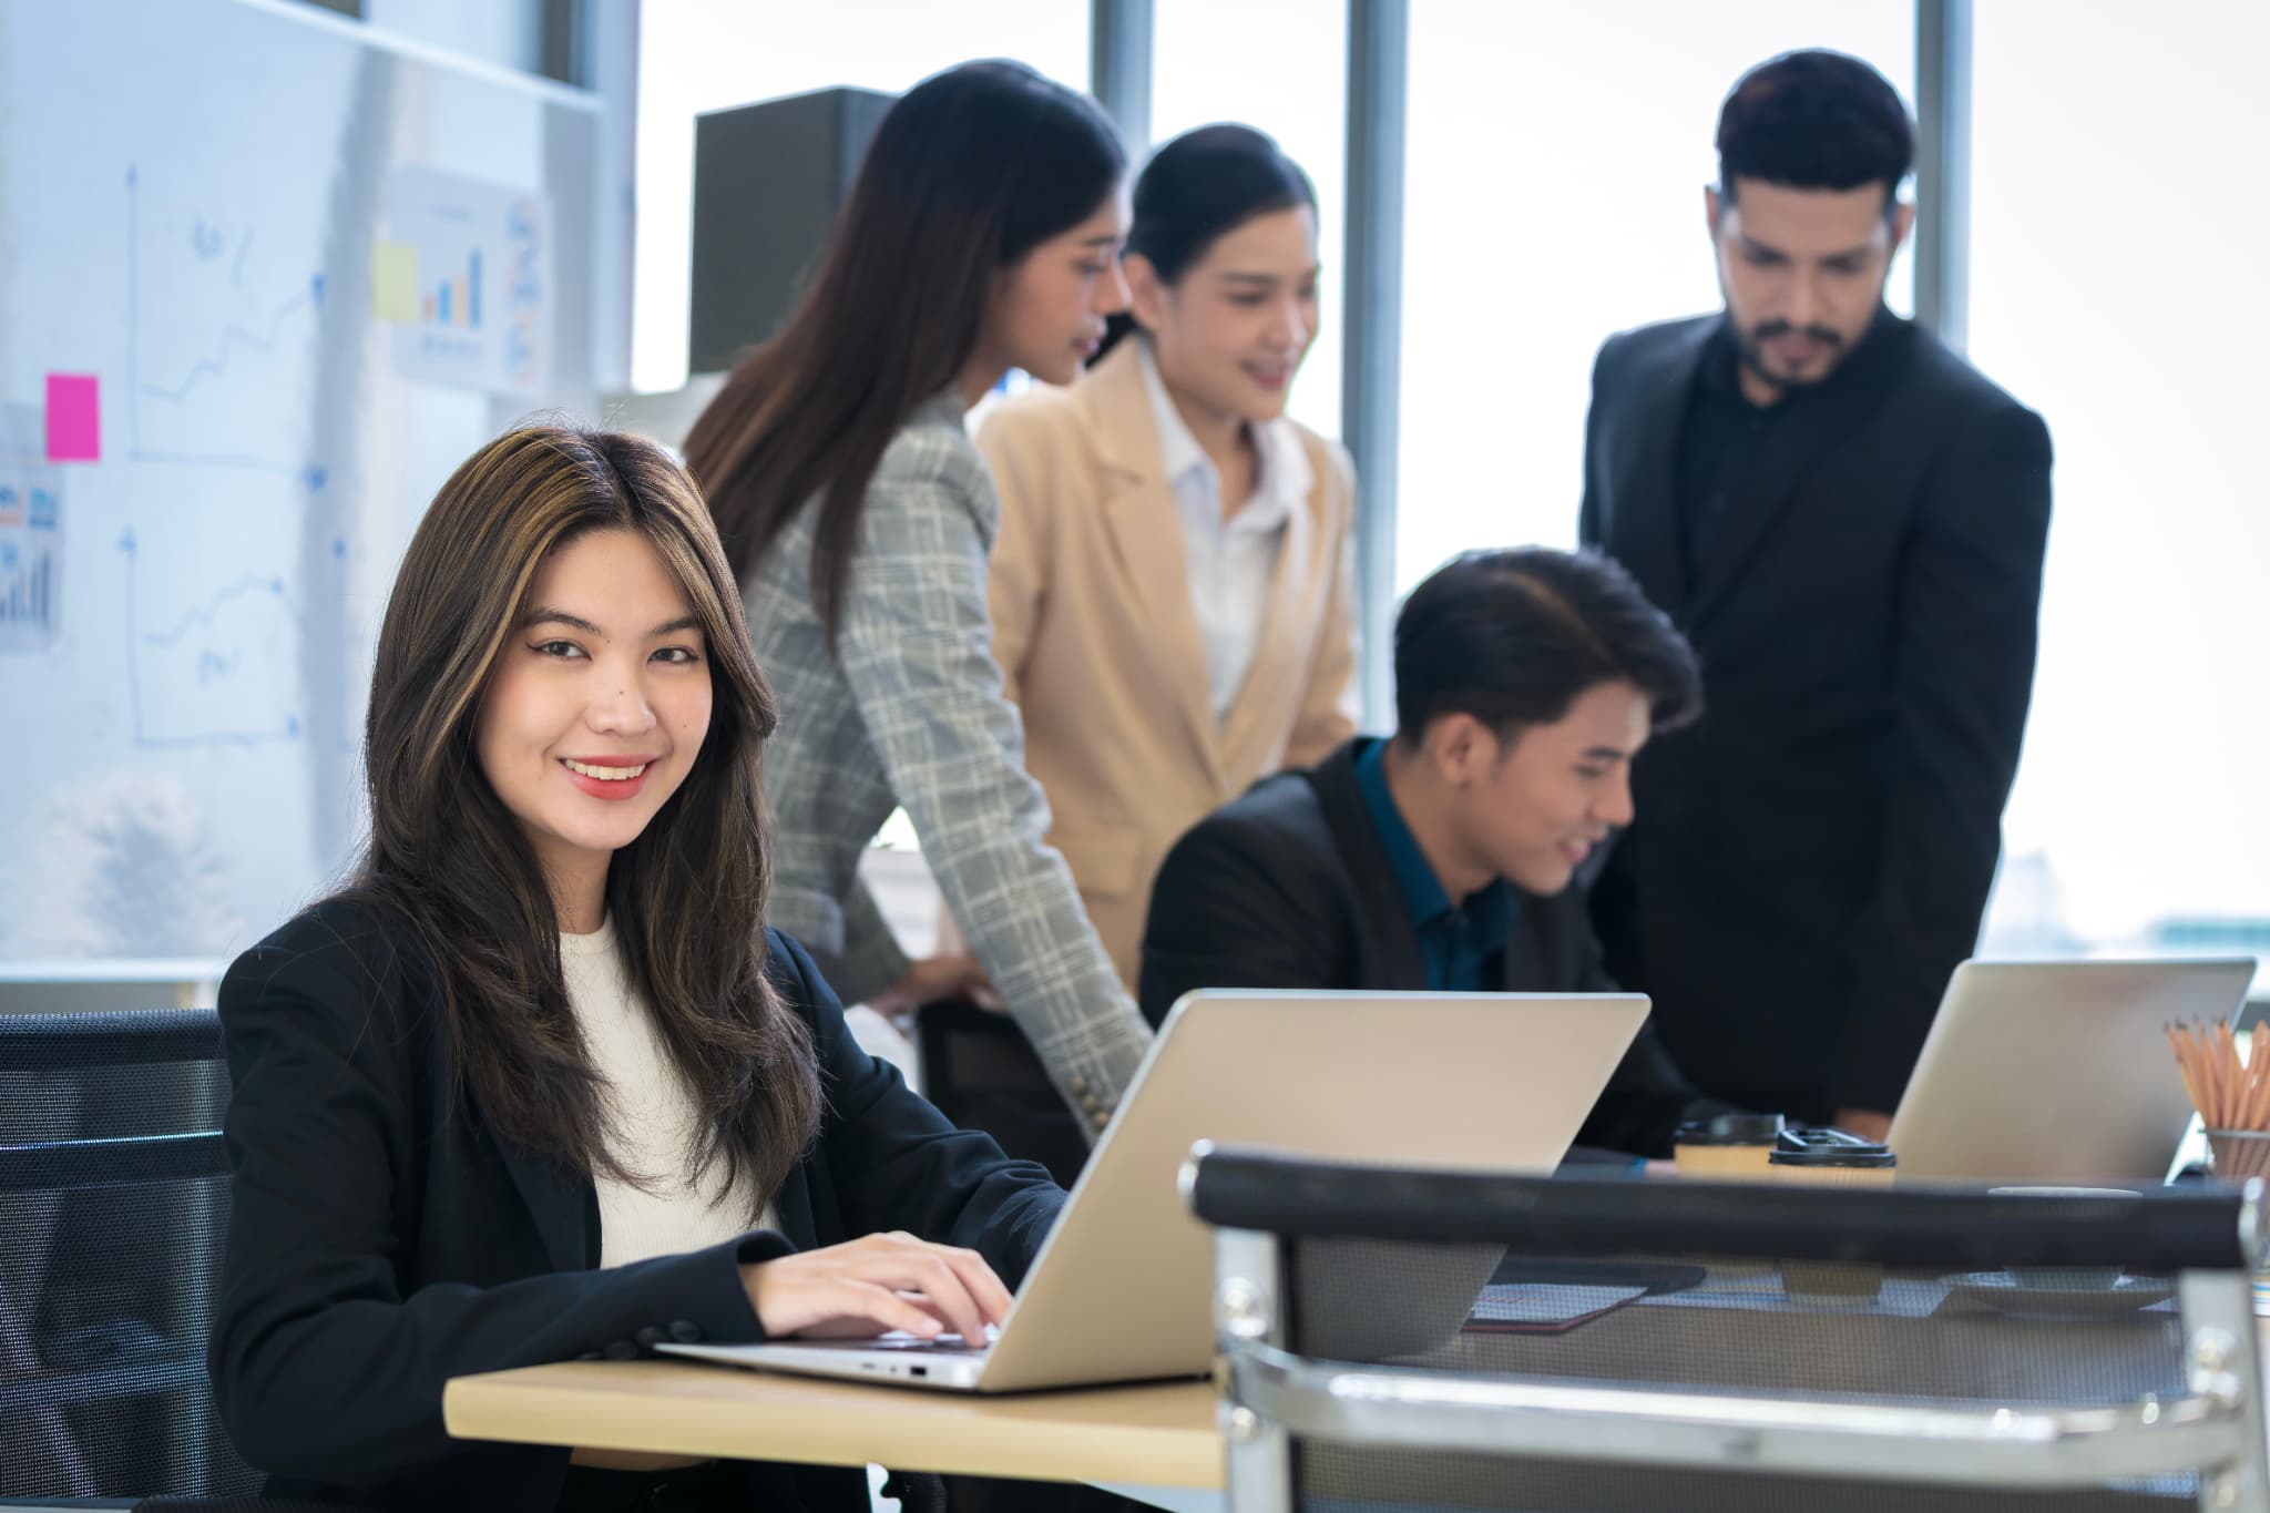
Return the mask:
POLYGON ((1671 617, 1621 565, 1548 547, 1466 551, 1396 615, 1396 724, 1444 715, 1491 730, 1548 726, 1600 683, 1634 683, 1657 730, 1702 712, 1702 671, 1671 617))

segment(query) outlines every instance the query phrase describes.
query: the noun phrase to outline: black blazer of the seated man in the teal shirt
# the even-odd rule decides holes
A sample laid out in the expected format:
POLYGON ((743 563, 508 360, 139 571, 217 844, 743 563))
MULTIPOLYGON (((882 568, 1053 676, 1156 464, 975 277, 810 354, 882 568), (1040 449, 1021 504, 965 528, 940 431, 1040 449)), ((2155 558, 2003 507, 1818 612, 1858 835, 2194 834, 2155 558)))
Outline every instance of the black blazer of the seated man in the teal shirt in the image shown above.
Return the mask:
MULTIPOLYGON (((1262 778, 1167 853, 1142 941, 1142 1012, 1153 1025, 1199 987, 1426 991, 1419 932, 1355 778, 1371 739, 1355 737, 1314 769, 1262 778)), ((1575 889, 1516 898, 1507 994, 1616 991, 1575 889)), ((1578 1143, 1666 1157, 1682 1118, 1723 1111, 1641 1025, 1578 1143)))

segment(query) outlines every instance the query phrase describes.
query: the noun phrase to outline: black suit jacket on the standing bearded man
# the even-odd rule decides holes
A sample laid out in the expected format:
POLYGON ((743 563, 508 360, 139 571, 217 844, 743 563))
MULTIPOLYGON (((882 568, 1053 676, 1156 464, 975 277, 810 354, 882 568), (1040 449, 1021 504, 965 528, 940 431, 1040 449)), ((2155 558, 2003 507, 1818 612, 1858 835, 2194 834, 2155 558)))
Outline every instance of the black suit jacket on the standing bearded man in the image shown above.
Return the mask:
POLYGON ((1757 458, 1684 581, 1680 424, 1718 315, 1612 338, 1580 535, 1702 658, 1594 887, 1609 971, 1712 1091, 1891 1111, 1977 944, 2034 683, 2050 433, 1889 313, 1757 458))

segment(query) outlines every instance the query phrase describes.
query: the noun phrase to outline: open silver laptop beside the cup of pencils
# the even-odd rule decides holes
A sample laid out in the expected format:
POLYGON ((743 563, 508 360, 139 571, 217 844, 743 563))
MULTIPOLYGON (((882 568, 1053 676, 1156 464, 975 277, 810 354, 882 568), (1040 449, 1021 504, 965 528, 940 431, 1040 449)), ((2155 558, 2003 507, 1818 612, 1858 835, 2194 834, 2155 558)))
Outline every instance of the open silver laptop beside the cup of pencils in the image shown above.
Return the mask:
POLYGON ((1900 1180, 2159 1184, 2191 1123, 2163 1025, 2227 1021, 2254 960, 1964 962, 1891 1121, 1900 1180))

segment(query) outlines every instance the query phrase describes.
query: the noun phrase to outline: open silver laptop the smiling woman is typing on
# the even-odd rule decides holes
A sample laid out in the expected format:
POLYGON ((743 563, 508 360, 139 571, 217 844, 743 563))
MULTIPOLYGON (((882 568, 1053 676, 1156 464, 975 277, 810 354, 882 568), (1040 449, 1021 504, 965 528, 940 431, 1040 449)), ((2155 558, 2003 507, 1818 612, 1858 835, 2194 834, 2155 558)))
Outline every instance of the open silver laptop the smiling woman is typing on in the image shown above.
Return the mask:
MULTIPOLYGON (((990 1345, 885 1336, 661 1350, 976 1393, 1205 1375, 1212 1252, 1176 1191, 1194 1143, 1550 1170, 1646 1016, 1648 1000, 1628 994, 1189 994, 990 1345)), ((1491 1263, 1482 1257, 1446 1329, 1491 1263)))

